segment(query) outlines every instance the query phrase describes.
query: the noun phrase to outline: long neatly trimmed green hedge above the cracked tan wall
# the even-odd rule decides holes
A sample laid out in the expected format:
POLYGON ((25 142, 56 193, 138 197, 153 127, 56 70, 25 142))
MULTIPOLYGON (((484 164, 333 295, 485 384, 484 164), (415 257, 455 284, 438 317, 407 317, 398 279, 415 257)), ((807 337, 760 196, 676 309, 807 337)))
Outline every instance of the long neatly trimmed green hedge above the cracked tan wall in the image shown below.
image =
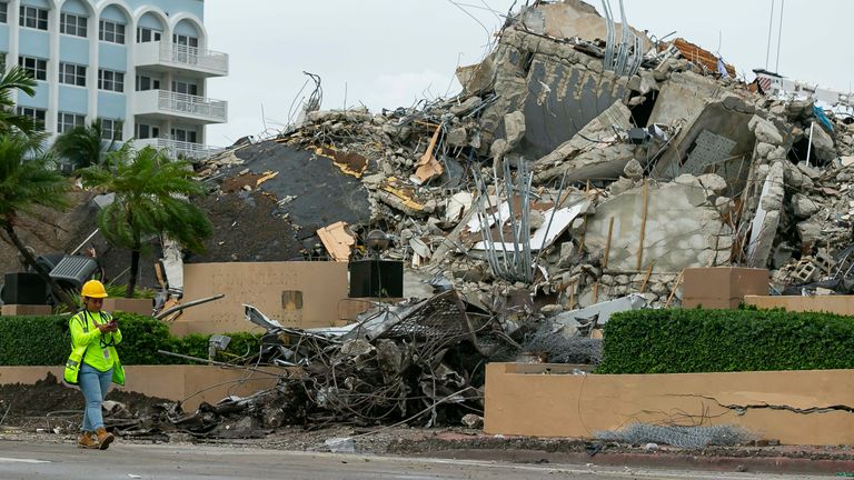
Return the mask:
POLYGON ((854 368, 854 318, 783 310, 636 310, 604 327, 597 373, 854 368))

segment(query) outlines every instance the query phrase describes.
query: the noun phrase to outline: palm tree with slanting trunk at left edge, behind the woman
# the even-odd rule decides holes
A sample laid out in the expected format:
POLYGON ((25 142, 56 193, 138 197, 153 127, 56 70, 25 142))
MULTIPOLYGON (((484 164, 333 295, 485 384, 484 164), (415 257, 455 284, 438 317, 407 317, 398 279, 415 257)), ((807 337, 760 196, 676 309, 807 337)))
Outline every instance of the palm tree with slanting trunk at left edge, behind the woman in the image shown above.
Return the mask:
POLYGON ((70 186, 59 172, 48 167, 53 158, 42 150, 41 140, 40 136, 29 137, 16 131, 0 134, 0 228, 24 262, 50 286, 57 299, 75 310, 75 302, 68 293, 36 262, 16 232, 18 218, 22 213, 32 214, 37 206, 52 209, 68 207, 64 194, 70 186))

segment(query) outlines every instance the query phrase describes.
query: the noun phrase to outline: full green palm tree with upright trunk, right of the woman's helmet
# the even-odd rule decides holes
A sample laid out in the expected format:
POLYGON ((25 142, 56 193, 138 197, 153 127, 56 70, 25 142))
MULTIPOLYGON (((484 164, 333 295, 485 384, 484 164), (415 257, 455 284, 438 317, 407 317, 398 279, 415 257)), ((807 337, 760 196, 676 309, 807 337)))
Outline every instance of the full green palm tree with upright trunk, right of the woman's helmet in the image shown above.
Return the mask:
POLYGON ((110 243, 131 251, 126 297, 131 298, 139 274, 146 238, 167 234, 190 251, 203 251, 202 241, 214 228, 188 196, 203 194, 189 162, 172 161, 165 152, 146 147, 133 151, 130 142, 108 153, 100 166, 80 171, 83 184, 115 193, 98 213, 98 226, 110 243))

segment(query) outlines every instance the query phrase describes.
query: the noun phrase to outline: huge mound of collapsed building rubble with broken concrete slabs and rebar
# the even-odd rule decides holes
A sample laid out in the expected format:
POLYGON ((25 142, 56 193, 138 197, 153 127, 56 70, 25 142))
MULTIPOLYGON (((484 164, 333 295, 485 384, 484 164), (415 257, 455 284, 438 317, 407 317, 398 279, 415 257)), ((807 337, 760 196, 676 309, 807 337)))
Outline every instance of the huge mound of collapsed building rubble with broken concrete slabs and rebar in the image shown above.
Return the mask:
MULTIPOLYGON (((691 267, 767 266, 781 292, 847 272, 850 254, 831 270, 821 259, 852 242, 851 118, 765 97, 717 63, 583 2, 536 3, 459 69, 456 98, 316 110, 244 148, 315 154, 341 182, 360 180, 369 220, 329 208, 325 224, 299 218, 299 198, 257 187, 305 231, 304 247, 336 221, 357 237, 379 227, 394 238, 387 258, 441 272, 481 306, 520 288, 566 310, 628 293, 678 304, 691 267)), ((246 157, 211 159, 205 174, 227 173, 235 154, 246 157)))

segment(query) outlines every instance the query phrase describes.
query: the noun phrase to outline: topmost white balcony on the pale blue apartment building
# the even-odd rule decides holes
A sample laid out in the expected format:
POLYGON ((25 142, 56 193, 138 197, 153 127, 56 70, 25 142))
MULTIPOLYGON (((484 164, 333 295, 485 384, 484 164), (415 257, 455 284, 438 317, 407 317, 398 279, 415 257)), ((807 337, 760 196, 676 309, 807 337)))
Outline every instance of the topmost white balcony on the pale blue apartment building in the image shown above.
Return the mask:
POLYGON ((228 53, 171 42, 137 43, 137 67, 152 71, 181 70, 202 77, 228 74, 228 53))

